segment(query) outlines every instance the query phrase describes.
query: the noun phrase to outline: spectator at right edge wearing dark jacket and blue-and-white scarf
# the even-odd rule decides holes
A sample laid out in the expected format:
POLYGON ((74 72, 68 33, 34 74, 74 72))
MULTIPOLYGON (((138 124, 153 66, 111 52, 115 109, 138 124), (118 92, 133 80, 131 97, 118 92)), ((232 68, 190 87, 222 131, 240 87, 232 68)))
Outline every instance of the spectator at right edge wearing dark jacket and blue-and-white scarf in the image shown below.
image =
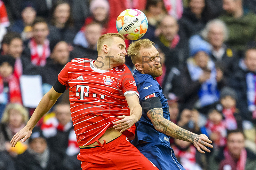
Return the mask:
POLYGON ((256 49, 249 47, 239 62, 239 68, 229 80, 229 86, 236 91, 236 106, 243 120, 255 119, 256 49), (253 114, 252 114, 253 113, 253 114))

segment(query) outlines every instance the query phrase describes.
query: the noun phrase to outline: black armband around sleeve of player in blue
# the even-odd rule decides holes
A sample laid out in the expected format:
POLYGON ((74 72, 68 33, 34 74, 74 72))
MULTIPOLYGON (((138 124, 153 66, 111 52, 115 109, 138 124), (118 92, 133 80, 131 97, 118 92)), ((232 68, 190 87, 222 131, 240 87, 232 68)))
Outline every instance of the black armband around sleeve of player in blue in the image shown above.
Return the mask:
POLYGON ((159 97, 150 97, 142 102, 142 110, 147 113, 151 109, 163 108, 159 97))

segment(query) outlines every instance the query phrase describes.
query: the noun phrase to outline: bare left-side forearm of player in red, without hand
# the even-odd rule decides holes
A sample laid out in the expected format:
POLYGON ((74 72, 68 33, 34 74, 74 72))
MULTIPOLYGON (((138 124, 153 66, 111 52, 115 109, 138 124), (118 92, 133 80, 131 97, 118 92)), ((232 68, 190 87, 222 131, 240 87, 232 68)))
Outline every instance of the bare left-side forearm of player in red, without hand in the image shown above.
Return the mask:
POLYGON ((36 123, 44 116, 46 112, 48 112, 51 109, 53 104, 55 104, 58 97, 61 95, 60 94, 58 97, 53 97, 50 91, 44 95, 44 97, 41 99, 38 106, 36 107, 35 112, 32 114, 31 118, 28 120, 28 123, 26 126, 29 129, 32 130, 36 126, 36 123))

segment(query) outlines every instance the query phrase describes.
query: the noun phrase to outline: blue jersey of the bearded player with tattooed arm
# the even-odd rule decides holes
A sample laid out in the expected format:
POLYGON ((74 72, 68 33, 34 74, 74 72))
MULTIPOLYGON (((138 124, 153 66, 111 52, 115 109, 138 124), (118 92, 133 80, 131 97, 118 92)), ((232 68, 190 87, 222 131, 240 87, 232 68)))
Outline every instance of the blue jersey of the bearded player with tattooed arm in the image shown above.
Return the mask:
MULTIPOLYGON (((164 118, 170 120, 167 99, 165 98, 163 90, 156 79, 149 74, 142 74, 138 70, 133 72, 133 77, 137 85, 137 90, 140 94, 140 105, 142 106, 142 103, 150 97, 159 97, 163 106, 164 118)), ((170 146, 170 137, 154 128, 151 120, 147 116, 147 113, 144 112, 143 109, 142 116, 136 123, 136 128, 137 134, 135 135, 135 139, 132 141, 134 146, 138 145, 139 140, 166 143, 170 146)))

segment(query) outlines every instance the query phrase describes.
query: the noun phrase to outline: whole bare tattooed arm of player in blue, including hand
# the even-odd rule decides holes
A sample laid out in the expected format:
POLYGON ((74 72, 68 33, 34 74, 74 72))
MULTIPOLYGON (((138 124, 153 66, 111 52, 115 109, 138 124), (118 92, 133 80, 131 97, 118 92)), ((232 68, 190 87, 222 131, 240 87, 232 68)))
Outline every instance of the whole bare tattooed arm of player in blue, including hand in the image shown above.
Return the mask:
POLYGON ((210 150, 205 146, 212 148, 212 145, 209 144, 212 143, 212 141, 210 141, 206 135, 197 135, 195 133, 189 132, 188 130, 180 128, 178 125, 172 123, 170 120, 165 119, 163 116, 162 108, 149 110, 147 116, 157 131, 176 139, 191 142, 201 153, 205 153, 201 150, 201 148, 207 152, 210 152, 210 150))

